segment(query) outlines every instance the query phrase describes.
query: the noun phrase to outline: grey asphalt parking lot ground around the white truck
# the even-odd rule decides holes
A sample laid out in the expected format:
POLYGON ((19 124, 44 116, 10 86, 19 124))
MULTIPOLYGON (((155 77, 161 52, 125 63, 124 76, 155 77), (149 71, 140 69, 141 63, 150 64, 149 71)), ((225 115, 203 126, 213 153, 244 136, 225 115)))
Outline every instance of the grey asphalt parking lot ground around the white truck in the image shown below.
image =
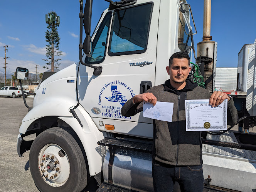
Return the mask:
MULTIPOLYGON (((33 98, 26 99, 28 106, 33 106, 33 98)), ((23 98, 6 98, 0 96, 0 192, 37 192, 29 169, 29 151, 24 157, 17 154, 17 136, 19 124, 27 114, 23 98)), ((232 128, 238 130, 238 126, 232 128)), ((250 129, 256 132, 256 127, 250 129)), ((27 138, 29 137, 29 138, 27 138)), ((34 139, 35 136, 27 136, 34 139)), ((84 192, 96 191, 96 180, 91 177, 84 192)))

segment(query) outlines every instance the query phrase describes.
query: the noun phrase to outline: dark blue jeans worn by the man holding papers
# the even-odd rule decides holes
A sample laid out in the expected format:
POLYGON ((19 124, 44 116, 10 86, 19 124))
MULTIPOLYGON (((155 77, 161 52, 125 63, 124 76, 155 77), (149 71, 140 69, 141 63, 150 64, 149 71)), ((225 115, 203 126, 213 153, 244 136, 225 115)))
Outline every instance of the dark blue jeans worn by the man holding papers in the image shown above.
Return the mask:
POLYGON ((176 181, 182 192, 202 192, 204 188, 202 165, 170 166, 153 160, 152 176, 155 192, 172 192, 176 181))

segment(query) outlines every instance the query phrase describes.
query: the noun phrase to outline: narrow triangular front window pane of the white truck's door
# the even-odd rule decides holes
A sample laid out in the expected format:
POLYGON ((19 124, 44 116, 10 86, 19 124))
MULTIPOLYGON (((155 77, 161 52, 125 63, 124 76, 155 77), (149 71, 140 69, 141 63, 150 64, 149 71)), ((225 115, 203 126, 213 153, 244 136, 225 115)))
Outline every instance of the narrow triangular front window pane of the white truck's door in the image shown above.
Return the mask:
POLYGON ((92 56, 86 57, 85 63, 98 64, 104 61, 111 15, 112 15, 112 12, 108 12, 103 18, 101 24, 99 25, 99 29, 96 32, 96 35, 92 43, 93 44, 92 56))

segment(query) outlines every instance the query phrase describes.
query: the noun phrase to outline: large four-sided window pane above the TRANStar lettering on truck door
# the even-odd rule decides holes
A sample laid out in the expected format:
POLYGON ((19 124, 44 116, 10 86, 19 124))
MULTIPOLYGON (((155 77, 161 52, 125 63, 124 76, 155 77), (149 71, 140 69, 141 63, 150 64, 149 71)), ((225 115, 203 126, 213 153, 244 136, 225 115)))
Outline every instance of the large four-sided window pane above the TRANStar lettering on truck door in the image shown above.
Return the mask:
POLYGON ((144 53, 147 50, 153 3, 114 12, 109 56, 144 53))

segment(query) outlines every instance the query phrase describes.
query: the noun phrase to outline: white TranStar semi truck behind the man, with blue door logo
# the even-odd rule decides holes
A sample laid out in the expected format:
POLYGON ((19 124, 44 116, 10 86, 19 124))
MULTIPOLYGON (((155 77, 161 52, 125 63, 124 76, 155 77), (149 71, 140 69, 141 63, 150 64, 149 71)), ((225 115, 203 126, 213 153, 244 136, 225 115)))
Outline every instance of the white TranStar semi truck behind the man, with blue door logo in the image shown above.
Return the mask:
MULTIPOLYGON (((191 8, 185 0, 106 1, 109 7, 92 36, 92 0, 86 0, 84 13, 79 1, 80 62, 44 73, 33 108, 25 103, 29 113, 20 125, 17 151, 22 157, 30 150, 30 171, 40 191, 81 191, 89 177, 97 180, 98 191, 153 191, 152 119, 124 117, 121 108, 169 78, 165 67, 173 53, 194 50, 191 8), (30 134, 35 140, 25 141, 30 134)), ((205 74, 214 72, 217 43, 203 41, 198 50, 199 66, 205 63, 205 74)), ((18 79, 28 73, 17 72, 18 79)), ((255 146, 236 134, 202 139, 205 190, 256 190, 255 146)))

